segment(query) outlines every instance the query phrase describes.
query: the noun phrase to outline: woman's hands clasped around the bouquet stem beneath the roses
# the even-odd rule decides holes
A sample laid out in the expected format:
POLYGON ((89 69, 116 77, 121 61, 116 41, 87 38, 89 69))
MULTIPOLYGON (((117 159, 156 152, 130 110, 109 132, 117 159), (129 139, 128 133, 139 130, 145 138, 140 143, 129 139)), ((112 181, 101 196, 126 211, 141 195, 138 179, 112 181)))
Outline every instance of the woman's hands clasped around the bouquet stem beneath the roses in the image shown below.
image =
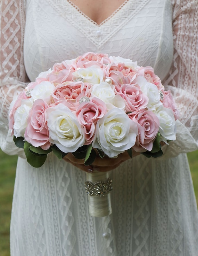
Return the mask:
MULTIPOLYGON (((135 157, 139 154, 140 153, 135 152, 134 150, 132 151, 132 157, 135 157)), ((127 151, 125 151, 122 154, 119 154, 117 158, 109 158, 109 157, 101 158, 99 155, 97 155, 93 164, 89 165, 89 166, 85 166, 84 160, 76 159, 72 153, 68 153, 63 159, 66 162, 73 164, 74 166, 76 166, 77 168, 79 168, 85 172, 93 172, 93 171, 107 172, 107 171, 115 169, 121 163, 130 159, 130 156, 127 153, 127 151)))

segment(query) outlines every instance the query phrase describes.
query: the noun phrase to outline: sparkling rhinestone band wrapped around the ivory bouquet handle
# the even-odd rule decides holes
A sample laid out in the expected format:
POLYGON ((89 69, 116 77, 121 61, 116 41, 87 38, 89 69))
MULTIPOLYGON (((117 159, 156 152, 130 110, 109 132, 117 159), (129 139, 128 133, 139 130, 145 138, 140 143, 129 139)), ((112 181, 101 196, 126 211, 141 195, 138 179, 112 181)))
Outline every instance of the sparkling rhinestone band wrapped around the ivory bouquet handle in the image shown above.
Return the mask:
POLYGON ((111 192, 113 187, 112 179, 108 178, 107 181, 98 181, 97 183, 91 183, 85 181, 84 188, 87 195, 104 196, 106 193, 111 192))

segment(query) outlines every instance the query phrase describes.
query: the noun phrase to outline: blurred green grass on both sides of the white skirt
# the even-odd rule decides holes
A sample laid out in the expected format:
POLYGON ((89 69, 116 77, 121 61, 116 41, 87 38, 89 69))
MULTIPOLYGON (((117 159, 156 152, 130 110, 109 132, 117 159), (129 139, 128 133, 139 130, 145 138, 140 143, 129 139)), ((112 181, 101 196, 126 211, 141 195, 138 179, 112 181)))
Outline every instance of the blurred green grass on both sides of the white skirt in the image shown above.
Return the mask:
MULTIPOLYGON (((188 154, 198 203, 198 151, 188 154)), ((0 256, 9 256, 9 226, 17 156, 0 150, 0 256)), ((27 255, 28 256, 28 255, 27 255)))

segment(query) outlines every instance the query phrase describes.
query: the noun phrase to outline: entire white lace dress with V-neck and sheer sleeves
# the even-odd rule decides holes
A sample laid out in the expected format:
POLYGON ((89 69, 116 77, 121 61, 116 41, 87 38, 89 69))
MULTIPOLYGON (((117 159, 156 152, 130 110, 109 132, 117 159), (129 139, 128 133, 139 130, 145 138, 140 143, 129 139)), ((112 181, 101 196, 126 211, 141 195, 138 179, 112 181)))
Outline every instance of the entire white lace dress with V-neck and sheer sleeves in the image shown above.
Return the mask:
POLYGON ((67 0, 0 6, 0 143, 20 156, 11 256, 197 256, 185 153, 198 148, 198 1, 129 0, 100 25, 67 0), (53 155, 32 168, 7 128, 10 101, 28 79, 88 51, 151 65, 180 110, 177 139, 162 157, 138 156, 112 172, 113 213, 102 218, 89 216, 84 172, 53 155))

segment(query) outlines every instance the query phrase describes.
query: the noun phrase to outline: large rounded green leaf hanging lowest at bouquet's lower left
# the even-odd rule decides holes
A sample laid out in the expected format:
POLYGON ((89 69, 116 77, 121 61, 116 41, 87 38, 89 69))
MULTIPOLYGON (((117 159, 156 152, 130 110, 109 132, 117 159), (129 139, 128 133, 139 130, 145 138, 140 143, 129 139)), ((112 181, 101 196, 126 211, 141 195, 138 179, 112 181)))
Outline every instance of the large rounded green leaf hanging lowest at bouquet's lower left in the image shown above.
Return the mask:
POLYGON ((27 141, 25 141, 24 143, 24 152, 27 158, 27 162, 29 164, 31 164, 33 167, 41 167, 44 162, 46 161, 47 158, 47 154, 46 155, 35 155, 33 154, 29 147, 31 147, 32 145, 30 143, 28 143, 27 141))

